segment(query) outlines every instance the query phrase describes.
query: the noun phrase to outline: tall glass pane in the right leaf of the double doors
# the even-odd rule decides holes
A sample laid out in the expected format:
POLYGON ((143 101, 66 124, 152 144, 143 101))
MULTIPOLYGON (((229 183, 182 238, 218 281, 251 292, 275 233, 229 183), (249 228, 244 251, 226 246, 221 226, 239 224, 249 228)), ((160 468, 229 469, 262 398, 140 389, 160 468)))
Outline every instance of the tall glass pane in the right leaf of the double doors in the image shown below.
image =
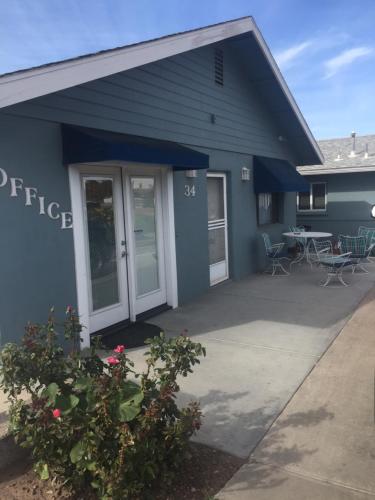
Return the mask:
POLYGON ((159 289, 155 179, 132 177, 137 297, 159 289))

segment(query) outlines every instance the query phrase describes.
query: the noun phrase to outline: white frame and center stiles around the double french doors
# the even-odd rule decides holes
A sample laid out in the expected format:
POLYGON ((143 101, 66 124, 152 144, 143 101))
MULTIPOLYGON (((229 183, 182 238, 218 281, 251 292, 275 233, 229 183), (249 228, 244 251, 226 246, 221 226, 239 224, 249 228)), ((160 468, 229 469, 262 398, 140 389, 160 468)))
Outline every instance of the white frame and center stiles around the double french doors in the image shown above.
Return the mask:
MULTIPOLYGON (((165 255, 165 281, 166 281, 166 302, 169 306, 175 308, 178 306, 178 292, 177 292, 177 265, 176 265, 176 241, 175 241, 175 221, 174 221, 174 199, 173 199, 173 170, 171 167, 165 165, 148 165, 142 163, 125 163, 125 162, 110 162, 103 164, 82 164, 70 165, 69 171, 69 184, 71 206, 73 214, 73 241, 74 241, 74 258, 76 269, 76 288, 77 288, 77 302, 78 314, 80 321, 84 326, 82 331, 82 347, 90 345, 90 299, 88 293, 87 283, 89 283, 89 275, 87 272, 86 262, 86 242, 85 242, 85 223, 82 210, 82 189, 81 189, 81 175, 82 173, 97 173, 101 172, 105 175, 109 173, 110 169, 116 168, 119 172, 120 168, 125 169, 126 172, 132 172, 134 175, 152 175, 152 171, 160 172, 161 179, 161 211, 163 218, 163 239, 164 239, 164 255, 165 255)), ((126 177, 126 176, 123 176, 126 177)), ((125 202, 127 203, 125 191, 125 202)), ((126 208, 125 208, 126 210, 126 208)), ((125 217, 125 220, 129 219, 125 217)), ((126 227, 126 232, 131 234, 130 228, 126 227)), ((128 279, 129 279, 129 315, 130 321, 135 321, 136 300, 134 297, 134 269, 131 266, 133 259, 131 245, 128 244, 128 279), (131 272, 132 269, 132 272, 131 272), (133 275, 132 275, 133 273, 133 275), (133 280, 133 281, 132 281, 133 280)))

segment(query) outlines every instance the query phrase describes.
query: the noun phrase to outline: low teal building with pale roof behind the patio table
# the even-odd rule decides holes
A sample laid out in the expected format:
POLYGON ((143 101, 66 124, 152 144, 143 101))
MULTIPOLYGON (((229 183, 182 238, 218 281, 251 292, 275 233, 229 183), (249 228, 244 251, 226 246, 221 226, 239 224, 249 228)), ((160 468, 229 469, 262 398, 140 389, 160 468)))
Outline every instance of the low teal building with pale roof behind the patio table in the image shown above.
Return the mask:
POLYGON ((353 132, 318 144, 324 163, 298 167, 310 192, 297 196, 297 223, 335 236, 375 228, 375 135, 353 132))

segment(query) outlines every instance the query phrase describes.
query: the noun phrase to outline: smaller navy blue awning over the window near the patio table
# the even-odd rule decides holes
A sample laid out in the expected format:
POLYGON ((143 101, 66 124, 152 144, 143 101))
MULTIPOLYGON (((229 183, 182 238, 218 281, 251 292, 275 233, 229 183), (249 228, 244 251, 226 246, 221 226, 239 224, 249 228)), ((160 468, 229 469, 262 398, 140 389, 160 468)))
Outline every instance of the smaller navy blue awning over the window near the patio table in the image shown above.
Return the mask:
POLYGON ((254 191, 256 193, 308 192, 310 184, 288 161, 255 156, 254 191))

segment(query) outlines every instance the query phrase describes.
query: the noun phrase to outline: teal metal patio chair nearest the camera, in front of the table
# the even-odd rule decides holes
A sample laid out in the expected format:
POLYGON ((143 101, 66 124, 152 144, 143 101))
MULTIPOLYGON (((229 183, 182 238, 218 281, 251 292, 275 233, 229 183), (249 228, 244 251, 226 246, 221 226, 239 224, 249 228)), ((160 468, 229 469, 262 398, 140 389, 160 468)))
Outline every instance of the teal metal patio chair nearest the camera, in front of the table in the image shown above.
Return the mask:
POLYGON ((342 272, 345 267, 352 265, 351 253, 334 255, 331 241, 312 240, 312 242, 319 266, 327 270, 327 279, 320 285, 326 287, 333 278, 336 278, 342 285, 349 286, 343 280, 342 272))

